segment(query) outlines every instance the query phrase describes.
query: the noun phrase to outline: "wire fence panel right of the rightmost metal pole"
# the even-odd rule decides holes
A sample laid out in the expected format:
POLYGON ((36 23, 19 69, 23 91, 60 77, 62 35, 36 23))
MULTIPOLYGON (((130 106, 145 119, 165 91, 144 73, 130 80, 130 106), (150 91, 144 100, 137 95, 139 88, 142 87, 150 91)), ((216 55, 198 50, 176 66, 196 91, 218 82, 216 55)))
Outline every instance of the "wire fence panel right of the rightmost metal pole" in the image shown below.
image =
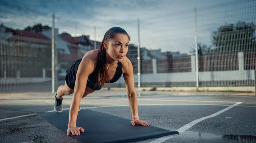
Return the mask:
POLYGON ((197 8, 197 17, 200 86, 254 86, 256 1, 197 8))

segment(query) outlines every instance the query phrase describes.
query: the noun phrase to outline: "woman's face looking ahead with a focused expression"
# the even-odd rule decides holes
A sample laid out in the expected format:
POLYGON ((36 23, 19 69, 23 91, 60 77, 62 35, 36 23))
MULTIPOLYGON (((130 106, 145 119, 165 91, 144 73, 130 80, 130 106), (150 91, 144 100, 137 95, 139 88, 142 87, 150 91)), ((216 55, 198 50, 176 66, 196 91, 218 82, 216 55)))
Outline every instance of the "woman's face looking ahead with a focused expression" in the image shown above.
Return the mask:
POLYGON ((122 62, 129 48, 128 36, 125 34, 116 34, 108 43, 104 42, 104 47, 107 49, 107 53, 112 59, 122 62))

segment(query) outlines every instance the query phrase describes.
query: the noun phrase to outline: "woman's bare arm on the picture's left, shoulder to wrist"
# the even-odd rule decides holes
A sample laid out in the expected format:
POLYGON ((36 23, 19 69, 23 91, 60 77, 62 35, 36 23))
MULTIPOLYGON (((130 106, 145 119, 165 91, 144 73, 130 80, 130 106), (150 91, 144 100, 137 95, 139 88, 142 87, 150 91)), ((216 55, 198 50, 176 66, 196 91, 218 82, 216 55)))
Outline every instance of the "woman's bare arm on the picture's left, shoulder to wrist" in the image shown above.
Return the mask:
POLYGON ((79 64, 79 68, 76 74, 74 94, 70 104, 68 128, 76 127, 79 105, 85 92, 88 76, 90 73, 93 73, 93 70, 94 61, 89 57, 89 55, 85 55, 79 64))

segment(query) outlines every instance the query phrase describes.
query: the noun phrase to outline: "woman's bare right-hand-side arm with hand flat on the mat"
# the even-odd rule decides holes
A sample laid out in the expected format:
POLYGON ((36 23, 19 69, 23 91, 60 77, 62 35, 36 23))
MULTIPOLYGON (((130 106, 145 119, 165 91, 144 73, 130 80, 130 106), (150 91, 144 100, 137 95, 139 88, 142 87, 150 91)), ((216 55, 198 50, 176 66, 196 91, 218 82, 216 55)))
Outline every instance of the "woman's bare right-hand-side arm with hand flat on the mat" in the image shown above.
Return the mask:
POLYGON ((147 123, 145 121, 140 121, 139 115, 138 115, 138 102, 137 102, 137 93, 134 86, 134 72, 133 72, 133 66, 131 64, 131 61, 129 59, 126 59, 124 62, 124 79, 125 79, 125 87, 126 92, 128 96, 128 102, 131 109, 131 115, 132 115, 132 125, 138 124, 143 126, 149 126, 150 123, 147 123))

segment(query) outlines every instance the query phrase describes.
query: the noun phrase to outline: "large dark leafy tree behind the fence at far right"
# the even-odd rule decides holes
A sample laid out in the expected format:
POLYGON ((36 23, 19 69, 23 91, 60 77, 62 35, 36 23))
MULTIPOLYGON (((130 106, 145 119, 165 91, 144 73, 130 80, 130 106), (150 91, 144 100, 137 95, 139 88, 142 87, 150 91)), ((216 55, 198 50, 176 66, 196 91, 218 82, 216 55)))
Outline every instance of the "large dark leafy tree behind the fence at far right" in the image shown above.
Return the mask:
POLYGON ((212 42, 215 49, 211 52, 238 52, 255 50, 253 42, 256 25, 253 22, 237 22, 222 25, 212 33, 212 42))

